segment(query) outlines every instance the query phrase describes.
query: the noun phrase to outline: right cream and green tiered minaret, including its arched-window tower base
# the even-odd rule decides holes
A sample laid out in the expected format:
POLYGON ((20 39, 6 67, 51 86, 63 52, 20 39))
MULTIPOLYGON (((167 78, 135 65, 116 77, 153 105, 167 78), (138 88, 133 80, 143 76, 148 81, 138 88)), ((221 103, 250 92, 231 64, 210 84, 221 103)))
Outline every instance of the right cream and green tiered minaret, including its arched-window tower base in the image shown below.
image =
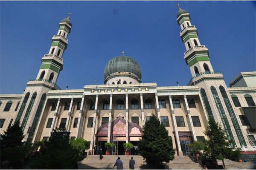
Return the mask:
POLYGON ((240 119, 237 119, 239 116, 235 112, 235 106, 223 75, 213 70, 209 60, 209 51, 205 45, 201 45, 198 31, 191 23, 189 12, 179 7, 177 23, 181 28, 181 40, 186 47, 184 59, 192 74, 189 85, 196 85, 200 88, 200 97, 204 102, 208 117, 222 125, 231 145, 238 147, 249 145, 245 138, 246 133, 240 128, 242 124, 240 119))

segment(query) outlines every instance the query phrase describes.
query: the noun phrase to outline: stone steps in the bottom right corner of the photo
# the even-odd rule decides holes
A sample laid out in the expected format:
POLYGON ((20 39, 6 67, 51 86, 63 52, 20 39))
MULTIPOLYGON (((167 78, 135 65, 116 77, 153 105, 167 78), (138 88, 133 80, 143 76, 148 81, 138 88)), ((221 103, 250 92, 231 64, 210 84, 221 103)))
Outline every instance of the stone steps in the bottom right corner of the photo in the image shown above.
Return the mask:
MULTIPOLYGON (((224 164, 228 170, 255 170, 256 164, 253 162, 236 162, 224 159, 224 164)), ((218 165, 223 165, 222 161, 218 160, 218 165)))

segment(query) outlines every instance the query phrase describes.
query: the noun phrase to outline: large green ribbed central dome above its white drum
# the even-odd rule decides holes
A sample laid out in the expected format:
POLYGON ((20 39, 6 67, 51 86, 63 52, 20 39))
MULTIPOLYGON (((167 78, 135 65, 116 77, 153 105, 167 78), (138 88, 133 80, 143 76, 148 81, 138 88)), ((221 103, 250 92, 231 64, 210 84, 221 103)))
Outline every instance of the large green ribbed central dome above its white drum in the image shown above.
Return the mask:
POLYGON ((118 72, 132 73, 141 79, 140 65, 131 57, 118 56, 112 58, 105 67, 104 79, 106 79, 109 75, 118 72))

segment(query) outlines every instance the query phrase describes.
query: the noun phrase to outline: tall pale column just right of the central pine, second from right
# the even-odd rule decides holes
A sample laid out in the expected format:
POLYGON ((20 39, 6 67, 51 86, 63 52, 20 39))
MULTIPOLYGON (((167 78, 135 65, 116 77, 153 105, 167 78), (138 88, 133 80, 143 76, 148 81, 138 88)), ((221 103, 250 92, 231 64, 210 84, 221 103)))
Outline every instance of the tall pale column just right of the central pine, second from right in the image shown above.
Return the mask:
POLYGON ((177 122, 176 122, 176 118, 175 118, 175 113, 174 113, 174 108, 173 108, 173 105, 172 105, 172 96, 169 95, 169 100, 170 100, 170 105, 171 105, 171 117, 172 117, 172 125, 173 125, 173 130, 174 130, 174 133, 175 133, 175 139, 176 139, 176 143, 177 143, 177 154, 182 156, 183 153, 182 153, 182 150, 181 150, 181 147, 180 147, 180 138, 179 138, 179 133, 178 133, 178 128, 177 128, 177 122))

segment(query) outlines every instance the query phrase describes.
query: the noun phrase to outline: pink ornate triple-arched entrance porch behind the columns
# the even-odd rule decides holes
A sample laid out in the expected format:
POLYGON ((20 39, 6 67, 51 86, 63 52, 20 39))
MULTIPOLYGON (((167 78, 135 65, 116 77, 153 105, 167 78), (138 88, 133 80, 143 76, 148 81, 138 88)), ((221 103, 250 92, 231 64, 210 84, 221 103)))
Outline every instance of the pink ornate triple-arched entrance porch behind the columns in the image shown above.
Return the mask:
MULTIPOLYGON (((129 138, 128 141, 134 145, 134 148, 131 149, 131 154, 136 154, 137 143, 142 136, 142 128, 137 123, 129 122, 129 138)), ((114 144, 111 154, 113 155, 124 155, 125 150, 123 144, 126 142, 126 120, 119 116, 114 121, 111 122, 111 136, 110 142, 114 144)), ((98 151, 102 148, 103 153, 105 154, 105 143, 108 141, 108 123, 104 123, 96 133, 96 144, 98 146, 98 151)))

